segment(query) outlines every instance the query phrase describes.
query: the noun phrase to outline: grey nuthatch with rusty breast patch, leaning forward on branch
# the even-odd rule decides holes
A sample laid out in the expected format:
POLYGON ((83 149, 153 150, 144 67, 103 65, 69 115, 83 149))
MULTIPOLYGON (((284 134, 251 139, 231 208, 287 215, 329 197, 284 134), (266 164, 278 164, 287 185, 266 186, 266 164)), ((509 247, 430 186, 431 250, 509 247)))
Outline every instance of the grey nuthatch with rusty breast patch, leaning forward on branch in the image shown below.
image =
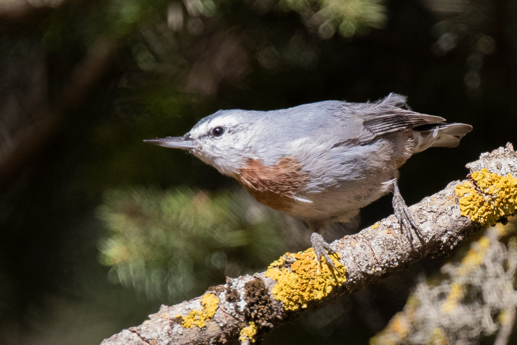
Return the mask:
POLYGON ((235 178, 258 202, 305 221, 318 261, 336 269, 321 232, 388 192, 414 250, 412 230, 418 238, 420 230, 400 193, 398 170, 429 147, 458 146, 473 128, 445 121, 412 111, 405 96, 391 93, 366 103, 219 110, 182 137, 144 141, 184 149, 235 178))

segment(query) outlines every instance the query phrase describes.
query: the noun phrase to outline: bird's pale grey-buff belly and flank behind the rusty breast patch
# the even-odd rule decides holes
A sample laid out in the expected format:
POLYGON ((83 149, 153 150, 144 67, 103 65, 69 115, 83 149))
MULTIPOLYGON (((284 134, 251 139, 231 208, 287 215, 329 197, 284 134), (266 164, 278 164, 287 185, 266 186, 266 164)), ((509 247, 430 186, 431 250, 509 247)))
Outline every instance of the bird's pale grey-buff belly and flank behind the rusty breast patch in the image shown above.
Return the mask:
POLYGON ((366 146, 337 147, 303 168, 311 171, 305 193, 289 214, 304 220, 347 221, 381 198, 397 177, 397 142, 378 140, 366 146))

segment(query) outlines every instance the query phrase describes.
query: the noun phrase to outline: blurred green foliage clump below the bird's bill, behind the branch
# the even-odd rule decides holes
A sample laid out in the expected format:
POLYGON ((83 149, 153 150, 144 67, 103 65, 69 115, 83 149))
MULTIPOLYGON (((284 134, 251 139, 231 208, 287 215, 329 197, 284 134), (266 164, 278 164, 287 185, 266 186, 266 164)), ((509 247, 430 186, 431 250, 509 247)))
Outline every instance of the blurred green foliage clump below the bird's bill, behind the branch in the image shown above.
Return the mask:
POLYGON ((112 279, 161 301, 264 269, 302 230, 245 191, 112 190, 97 212, 109 229, 100 250, 112 279))

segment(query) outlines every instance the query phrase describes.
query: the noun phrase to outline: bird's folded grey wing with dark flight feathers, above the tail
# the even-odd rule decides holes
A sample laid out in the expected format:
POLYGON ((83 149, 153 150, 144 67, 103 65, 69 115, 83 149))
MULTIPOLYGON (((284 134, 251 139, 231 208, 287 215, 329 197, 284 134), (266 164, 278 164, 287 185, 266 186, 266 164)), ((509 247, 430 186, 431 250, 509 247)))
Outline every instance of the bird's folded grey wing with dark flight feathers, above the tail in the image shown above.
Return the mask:
POLYGON ((342 120, 345 140, 337 143, 363 145, 375 139, 423 125, 442 124, 445 118, 420 114, 407 108, 404 96, 390 94, 375 103, 339 104, 335 114, 342 120))

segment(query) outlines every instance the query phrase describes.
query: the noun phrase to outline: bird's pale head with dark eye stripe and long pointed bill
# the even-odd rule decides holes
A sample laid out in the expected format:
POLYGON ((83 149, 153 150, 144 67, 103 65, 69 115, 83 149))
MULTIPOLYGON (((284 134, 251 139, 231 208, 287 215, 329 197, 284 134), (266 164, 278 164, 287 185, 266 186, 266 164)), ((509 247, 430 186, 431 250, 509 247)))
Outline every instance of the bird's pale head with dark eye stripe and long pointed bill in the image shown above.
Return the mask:
POLYGON ((202 118, 183 137, 144 141, 186 149, 222 174, 235 176, 246 159, 253 155, 252 132, 256 130, 258 122, 254 113, 260 112, 220 110, 202 118))

